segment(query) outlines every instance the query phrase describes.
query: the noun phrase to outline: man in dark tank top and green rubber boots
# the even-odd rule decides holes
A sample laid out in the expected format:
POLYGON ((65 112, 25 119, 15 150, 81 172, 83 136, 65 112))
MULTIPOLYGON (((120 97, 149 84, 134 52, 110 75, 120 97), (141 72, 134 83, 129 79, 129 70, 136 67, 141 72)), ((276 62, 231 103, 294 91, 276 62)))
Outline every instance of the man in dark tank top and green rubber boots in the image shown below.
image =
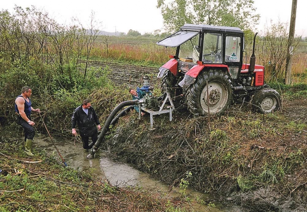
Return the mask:
POLYGON ((33 137, 35 135, 35 130, 33 128, 35 123, 31 120, 31 112, 40 112, 40 109, 33 109, 30 100, 31 94, 31 88, 25 86, 21 89, 21 95, 17 96, 15 100, 15 112, 18 114, 18 124, 21 125, 25 131, 25 153, 29 156, 34 156, 31 150, 33 137))

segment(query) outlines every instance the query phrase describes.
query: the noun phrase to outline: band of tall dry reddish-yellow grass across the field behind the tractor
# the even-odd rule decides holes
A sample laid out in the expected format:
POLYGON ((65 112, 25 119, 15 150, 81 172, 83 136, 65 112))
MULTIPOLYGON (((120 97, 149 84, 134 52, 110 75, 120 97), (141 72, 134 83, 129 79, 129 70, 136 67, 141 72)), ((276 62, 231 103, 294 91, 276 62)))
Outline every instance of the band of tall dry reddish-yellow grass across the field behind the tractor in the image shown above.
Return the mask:
MULTIPOLYGON (((158 46, 155 43, 146 44, 108 44, 103 42, 97 42, 91 51, 91 56, 143 62, 145 64, 164 64, 169 60, 169 55, 175 54, 175 48, 165 48, 158 46)), ((276 79, 274 72, 278 72, 276 76, 278 79, 282 79, 285 74, 286 61, 283 60, 282 64, 278 64, 276 67, 278 70, 274 70, 272 64, 268 64, 270 61, 269 55, 265 51, 260 51, 260 48, 256 49, 256 64, 266 67, 266 81, 276 79)), ((244 58, 245 62, 245 58, 244 58)), ((247 56, 247 63, 249 63, 249 55, 247 56)), ((292 82, 293 83, 307 83, 307 52, 300 52, 294 54, 292 63, 292 82)))

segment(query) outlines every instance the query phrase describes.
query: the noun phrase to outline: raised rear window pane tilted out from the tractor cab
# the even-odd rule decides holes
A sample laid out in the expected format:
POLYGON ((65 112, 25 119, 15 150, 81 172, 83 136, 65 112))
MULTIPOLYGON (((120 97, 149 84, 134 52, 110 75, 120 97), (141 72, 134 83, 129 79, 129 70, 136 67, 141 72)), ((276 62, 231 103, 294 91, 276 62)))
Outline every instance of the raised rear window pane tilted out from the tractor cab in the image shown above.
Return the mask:
POLYGON ((183 44, 185 41, 191 39, 192 37, 199 34, 200 31, 186 31, 180 30, 169 37, 164 38, 157 42, 160 46, 167 46, 167 47, 177 47, 183 44))

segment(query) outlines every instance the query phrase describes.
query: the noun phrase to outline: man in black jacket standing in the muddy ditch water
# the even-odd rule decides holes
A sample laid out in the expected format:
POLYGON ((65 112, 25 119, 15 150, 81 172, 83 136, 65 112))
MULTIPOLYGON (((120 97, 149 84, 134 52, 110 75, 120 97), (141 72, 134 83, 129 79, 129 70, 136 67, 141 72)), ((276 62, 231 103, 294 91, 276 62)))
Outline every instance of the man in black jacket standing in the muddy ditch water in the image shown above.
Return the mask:
POLYGON ((77 135, 76 123, 78 123, 84 151, 88 152, 88 138, 92 138, 94 145, 98 137, 96 125, 98 125, 98 130, 101 129, 97 114, 88 99, 84 99, 82 105, 77 107, 72 115, 72 134, 74 136, 77 135))

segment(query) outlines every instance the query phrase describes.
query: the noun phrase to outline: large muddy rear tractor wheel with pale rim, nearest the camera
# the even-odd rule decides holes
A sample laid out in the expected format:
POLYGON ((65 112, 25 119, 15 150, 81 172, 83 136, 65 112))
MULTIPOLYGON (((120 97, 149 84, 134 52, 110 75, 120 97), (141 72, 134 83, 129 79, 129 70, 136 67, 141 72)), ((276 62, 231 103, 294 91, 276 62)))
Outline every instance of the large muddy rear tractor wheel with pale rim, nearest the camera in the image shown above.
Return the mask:
POLYGON ((232 102, 231 80, 225 71, 203 71, 196 81, 188 88, 185 94, 185 102, 188 110, 196 116, 210 114, 221 115, 227 110, 232 102), (208 93, 207 96, 207 81, 208 93))

